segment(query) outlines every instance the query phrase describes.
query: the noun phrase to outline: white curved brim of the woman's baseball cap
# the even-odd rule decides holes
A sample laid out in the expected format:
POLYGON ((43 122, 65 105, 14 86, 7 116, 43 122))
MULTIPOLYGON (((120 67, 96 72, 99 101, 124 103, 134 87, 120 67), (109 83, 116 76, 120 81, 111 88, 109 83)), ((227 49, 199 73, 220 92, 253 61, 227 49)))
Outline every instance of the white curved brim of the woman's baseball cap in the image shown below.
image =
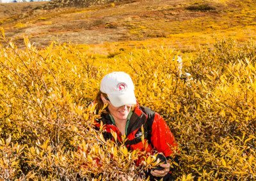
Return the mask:
POLYGON ((125 94, 121 95, 108 94, 108 98, 111 104, 115 107, 124 105, 136 105, 137 103, 134 92, 125 92, 125 94))

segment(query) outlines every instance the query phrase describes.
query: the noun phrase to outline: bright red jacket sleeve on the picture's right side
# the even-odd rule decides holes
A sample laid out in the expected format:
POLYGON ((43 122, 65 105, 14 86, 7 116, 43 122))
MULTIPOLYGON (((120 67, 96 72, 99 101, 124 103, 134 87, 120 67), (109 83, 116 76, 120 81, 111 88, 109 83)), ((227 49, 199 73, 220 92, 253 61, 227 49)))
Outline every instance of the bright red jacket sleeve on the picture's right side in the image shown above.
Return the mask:
POLYGON ((163 152, 164 156, 171 156, 177 150, 177 143, 170 128, 159 113, 155 114, 152 124, 151 143, 157 152, 163 152))

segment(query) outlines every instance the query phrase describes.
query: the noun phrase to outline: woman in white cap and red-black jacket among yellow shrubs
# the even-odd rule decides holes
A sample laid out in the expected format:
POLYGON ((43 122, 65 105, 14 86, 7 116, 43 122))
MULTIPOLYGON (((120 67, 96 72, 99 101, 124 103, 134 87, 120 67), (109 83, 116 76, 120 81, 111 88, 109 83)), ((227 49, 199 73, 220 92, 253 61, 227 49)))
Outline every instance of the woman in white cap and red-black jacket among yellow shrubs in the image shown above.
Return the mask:
MULTIPOLYGON (((106 134, 104 134, 106 139, 113 139, 112 130, 116 132, 119 141, 122 140, 122 135, 126 136, 125 145, 129 150, 158 152, 167 159, 177 149, 173 134, 163 118, 158 113, 140 106, 136 102, 134 84, 127 73, 119 71, 104 76, 95 102, 97 110, 108 105, 100 119, 106 127, 106 134), (141 130, 142 126, 144 130, 141 130), (143 134, 145 141, 148 142, 146 146, 141 141, 143 134)), ((169 173, 170 163, 163 163, 160 166, 159 170, 151 170, 148 173, 150 178, 172 180, 169 173)))

